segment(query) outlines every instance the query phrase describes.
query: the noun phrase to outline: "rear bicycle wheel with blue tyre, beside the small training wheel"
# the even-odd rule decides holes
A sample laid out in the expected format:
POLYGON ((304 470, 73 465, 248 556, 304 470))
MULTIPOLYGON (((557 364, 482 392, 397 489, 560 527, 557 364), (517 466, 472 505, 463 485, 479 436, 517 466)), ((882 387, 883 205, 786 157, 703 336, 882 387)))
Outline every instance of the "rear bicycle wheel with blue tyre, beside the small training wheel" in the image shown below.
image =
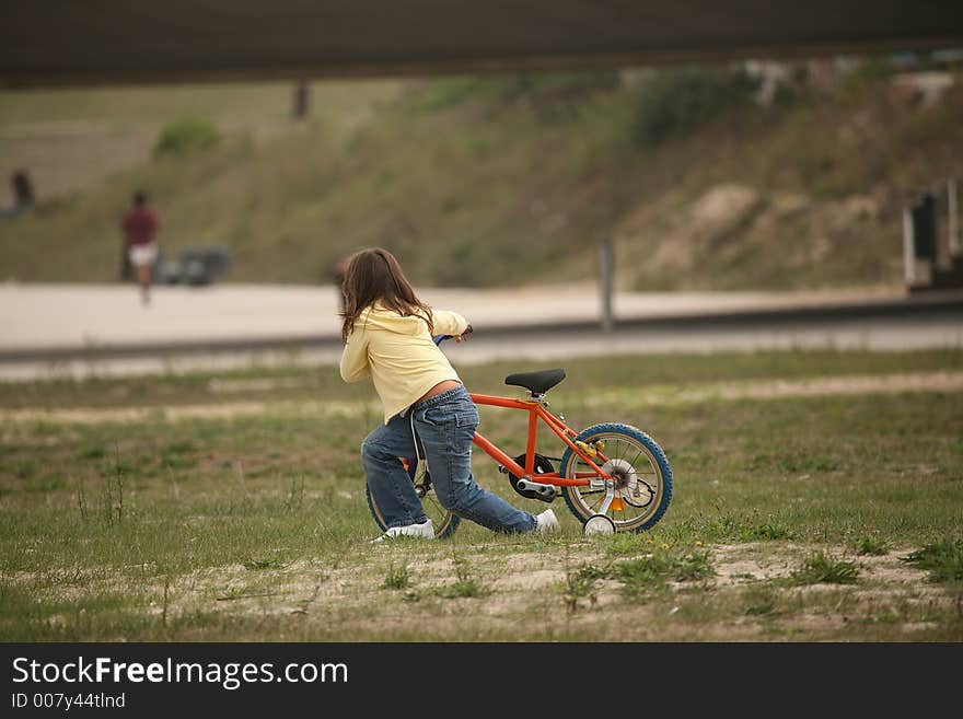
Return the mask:
MULTIPOLYGON (((662 448, 646 432, 630 425, 607 422, 582 430, 576 441, 599 447, 604 459, 596 464, 616 483, 615 498, 606 515, 616 532, 642 532, 662 519, 672 499, 672 468, 662 448)), ((561 455, 562 477, 587 475, 594 469, 571 448, 561 455)), ((605 489, 562 487, 561 495, 572 514, 584 524, 600 513, 605 489)))

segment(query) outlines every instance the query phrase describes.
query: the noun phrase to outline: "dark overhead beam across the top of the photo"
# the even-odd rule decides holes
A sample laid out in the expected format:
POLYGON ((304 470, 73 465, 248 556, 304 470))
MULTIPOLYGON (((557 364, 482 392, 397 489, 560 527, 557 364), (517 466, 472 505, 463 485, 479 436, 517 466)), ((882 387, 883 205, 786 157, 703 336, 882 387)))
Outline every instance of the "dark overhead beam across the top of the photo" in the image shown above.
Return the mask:
POLYGON ((0 0, 0 86, 391 77, 963 46, 961 0, 0 0))

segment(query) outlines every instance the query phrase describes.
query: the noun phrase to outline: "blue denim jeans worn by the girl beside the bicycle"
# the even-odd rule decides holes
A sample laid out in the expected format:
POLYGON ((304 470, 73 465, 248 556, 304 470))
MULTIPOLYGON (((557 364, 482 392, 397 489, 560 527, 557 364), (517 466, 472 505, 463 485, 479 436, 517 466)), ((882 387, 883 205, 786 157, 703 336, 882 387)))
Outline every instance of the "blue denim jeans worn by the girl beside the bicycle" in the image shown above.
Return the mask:
POLYGON ((422 461, 428 462, 431 484, 444 509, 496 532, 535 530, 534 515, 486 491, 472 476, 472 440, 478 427, 478 409, 461 385, 417 403, 405 417, 395 415, 361 443, 364 477, 386 527, 427 519, 398 460, 417 456, 413 421, 425 448, 422 461))

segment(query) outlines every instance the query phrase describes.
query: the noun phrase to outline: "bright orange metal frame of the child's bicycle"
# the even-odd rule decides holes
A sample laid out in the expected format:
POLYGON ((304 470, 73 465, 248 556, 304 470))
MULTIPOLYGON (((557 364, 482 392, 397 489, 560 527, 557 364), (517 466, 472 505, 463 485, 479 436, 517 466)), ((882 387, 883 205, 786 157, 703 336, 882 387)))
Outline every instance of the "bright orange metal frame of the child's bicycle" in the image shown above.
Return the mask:
MULTIPOLYGON (((502 465, 517 477, 525 477, 531 482, 538 482, 547 485, 559 487, 585 487, 591 484, 591 479, 610 479, 611 475, 602 472, 601 467, 595 464, 589 452, 583 451, 575 442, 578 433, 568 427, 561 419, 545 409, 542 402, 537 399, 512 399, 510 397, 498 397, 487 394, 469 393, 476 405, 485 405, 489 407, 506 407, 509 409, 522 409, 529 413, 529 438, 525 447, 525 466, 520 465, 512 457, 506 454, 494 442, 475 432, 474 443, 479 447, 488 456, 502 465), (558 472, 546 472, 544 474, 535 474, 535 445, 538 438, 538 421, 545 422, 548 428, 555 432, 558 438, 565 442, 576 454, 578 454, 594 472, 579 472, 575 477, 562 477, 558 472)), ((594 451, 596 456, 602 460, 602 464, 608 461, 601 451, 594 451)))

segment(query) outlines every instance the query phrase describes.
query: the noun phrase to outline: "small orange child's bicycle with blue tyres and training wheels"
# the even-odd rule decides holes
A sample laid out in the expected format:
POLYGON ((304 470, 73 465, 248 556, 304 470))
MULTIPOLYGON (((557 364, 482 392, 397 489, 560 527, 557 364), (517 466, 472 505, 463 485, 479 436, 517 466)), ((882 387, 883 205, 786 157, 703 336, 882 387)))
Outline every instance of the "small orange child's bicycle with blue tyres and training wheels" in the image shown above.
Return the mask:
MULTIPOLYGON (((468 328, 471 332, 471 326, 468 328)), ((439 335, 436 344, 449 339, 439 335)), ((479 432, 474 443, 507 474, 512 489, 527 499, 553 502, 565 499, 585 534, 642 532, 662 519, 672 499, 672 468, 662 448, 642 430, 624 422, 602 422, 577 432, 565 416, 548 410, 548 391, 565 379, 565 370, 550 369, 509 374, 507 385, 524 387, 529 397, 517 399, 469 393, 476 405, 529 413, 525 452, 512 457, 479 432), (537 452, 538 426, 560 440, 564 452, 550 457, 537 452), (558 462, 558 466, 554 462, 558 462)), ((437 537, 448 537, 461 518, 441 506, 431 485, 431 473, 419 457, 399 457, 421 498, 437 537)), ((386 524, 378 503, 368 506, 382 529, 386 524)))

